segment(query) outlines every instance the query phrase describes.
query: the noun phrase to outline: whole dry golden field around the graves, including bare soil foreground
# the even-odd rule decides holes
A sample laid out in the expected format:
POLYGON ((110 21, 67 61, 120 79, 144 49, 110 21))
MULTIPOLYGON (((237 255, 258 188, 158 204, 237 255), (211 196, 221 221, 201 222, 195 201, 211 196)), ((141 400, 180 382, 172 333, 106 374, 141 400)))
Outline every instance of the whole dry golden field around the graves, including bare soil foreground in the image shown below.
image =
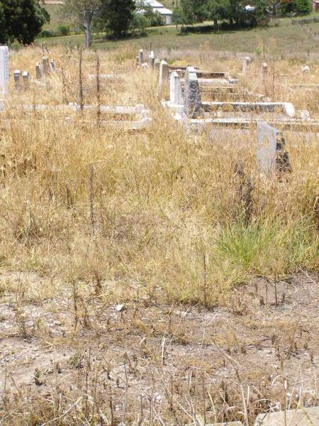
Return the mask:
MULTIPOLYGON (((11 72, 35 77, 42 55, 12 52, 11 72)), ((264 179, 254 126, 186 132, 159 103, 168 87, 135 68, 136 55, 99 53, 101 72, 121 75, 101 80, 101 104, 144 104, 152 125, 140 131, 98 126, 97 107, 69 124, 54 109, 19 111, 79 102, 77 49, 50 50, 57 71, 45 87, 15 92, 11 78, 1 115, 1 425, 248 426, 263 411, 318 403, 318 134, 284 131, 291 173, 264 179)), ((240 60, 206 45, 173 59, 240 77, 240 60)), ((264 79, 262 61, 239 92, 318 118, 318 89, 286 85, 318 84, 318 60, 303 74, 298 60, 269 57, 264 79)), ((96 53, 84 52, 85 104, 97 104, 95 72, 96 53)))

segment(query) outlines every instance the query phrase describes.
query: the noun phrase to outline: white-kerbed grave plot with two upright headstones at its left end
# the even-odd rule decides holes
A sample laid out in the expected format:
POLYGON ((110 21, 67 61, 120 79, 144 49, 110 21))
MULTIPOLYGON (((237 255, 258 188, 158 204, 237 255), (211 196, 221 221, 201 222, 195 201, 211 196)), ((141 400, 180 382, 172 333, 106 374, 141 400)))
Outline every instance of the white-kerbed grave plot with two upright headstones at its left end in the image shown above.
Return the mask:
POLYGON ((291 102, 203 102, 198 75, 188 67, 184 81, 173 72, 170 76, 169 101, 162 105, 174 119, 196 128, 207 125, 249 126, 257 121, 284 124, 293 128, 318 128, 308 111, 296 111, 291 102))

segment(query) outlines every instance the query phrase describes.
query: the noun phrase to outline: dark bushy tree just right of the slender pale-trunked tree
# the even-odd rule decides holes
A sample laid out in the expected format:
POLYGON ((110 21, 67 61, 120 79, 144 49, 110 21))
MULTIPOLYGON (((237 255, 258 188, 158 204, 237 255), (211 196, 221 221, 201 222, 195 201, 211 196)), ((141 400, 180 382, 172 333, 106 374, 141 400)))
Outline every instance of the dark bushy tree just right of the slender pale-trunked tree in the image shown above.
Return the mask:
POLYGON ((128 32, 134 11, 134 0, 101 0, 101 21, 115 38, 121 38, 128 32))

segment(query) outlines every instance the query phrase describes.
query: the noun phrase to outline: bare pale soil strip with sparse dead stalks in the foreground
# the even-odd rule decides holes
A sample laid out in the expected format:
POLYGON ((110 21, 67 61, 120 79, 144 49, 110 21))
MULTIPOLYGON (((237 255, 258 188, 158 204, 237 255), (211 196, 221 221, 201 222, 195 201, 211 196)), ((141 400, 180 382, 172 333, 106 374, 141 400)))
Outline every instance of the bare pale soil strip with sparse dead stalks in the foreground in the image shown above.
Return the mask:
MULTIPOLYGON (((21 280, 21 274, 3 278, 8 276, 21 280)), ((33 274, 28 279, 42 278, 33 274)), ((99 386, 108 383, 113 389, 119 418, 123 412, 135 418, 140 395, 150 393, 165 412, 174 405, 171 412, 180 410, 183 416, 181 407, 187 409, 193 398, 197 410, 201 413, 205 405, 211 418, 208 397, 201 396, 209 388, 218 413, 227 403, 233 407, 228 420, 242 420, 240 388, 248 386, 254 418, 269 404, 280 406, 285 381, 291 408, 298 403, 315 405, 318 284, 318 276, 300 273, 290 283, 277 283, 275 297, 274 285, 258 279, 242 285, 225 306, 212 310, 159 303, 160 289, 142 300, 137 296, 121 313, 116 305, 92 298, 86 321, 82 315, 75 335, 72 297, 65 293, 21 307, 30 334, 24 338, 15 313, 16 296, 3 293, 1 393, 18 389, 47 395, 56 386, 65 392, 74 386, 79 390, 90 365, 90 371, 99 370, 99 386), (35 371, 40 371, 38 386, 35 371), (174 402, 167 397, 167 388, 172 389, 174 402)))

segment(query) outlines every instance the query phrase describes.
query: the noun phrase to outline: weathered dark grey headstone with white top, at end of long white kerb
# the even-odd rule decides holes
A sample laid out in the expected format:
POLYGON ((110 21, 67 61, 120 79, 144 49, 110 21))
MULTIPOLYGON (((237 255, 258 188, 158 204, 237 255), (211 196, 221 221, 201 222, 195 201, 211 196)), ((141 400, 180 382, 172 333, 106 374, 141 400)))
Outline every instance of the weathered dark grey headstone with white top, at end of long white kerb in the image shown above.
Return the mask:
POLYGON ((187 67, 185 72, 184 111, 186 116, 195 119, 202 110, 201 92, 194 67, 187 67))

